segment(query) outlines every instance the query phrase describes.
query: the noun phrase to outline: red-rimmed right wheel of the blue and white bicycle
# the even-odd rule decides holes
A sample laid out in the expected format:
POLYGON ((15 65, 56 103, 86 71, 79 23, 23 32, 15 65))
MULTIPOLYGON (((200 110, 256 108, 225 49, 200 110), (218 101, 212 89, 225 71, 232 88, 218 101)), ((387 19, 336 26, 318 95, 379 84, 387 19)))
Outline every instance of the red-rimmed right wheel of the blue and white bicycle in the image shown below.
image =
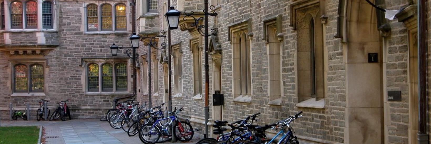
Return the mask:
POLYGON ((176 122, 174 128, 175 138, 178 141, 185 142, 190 141, 193 138, 194 131, 188 122, 176 122))

